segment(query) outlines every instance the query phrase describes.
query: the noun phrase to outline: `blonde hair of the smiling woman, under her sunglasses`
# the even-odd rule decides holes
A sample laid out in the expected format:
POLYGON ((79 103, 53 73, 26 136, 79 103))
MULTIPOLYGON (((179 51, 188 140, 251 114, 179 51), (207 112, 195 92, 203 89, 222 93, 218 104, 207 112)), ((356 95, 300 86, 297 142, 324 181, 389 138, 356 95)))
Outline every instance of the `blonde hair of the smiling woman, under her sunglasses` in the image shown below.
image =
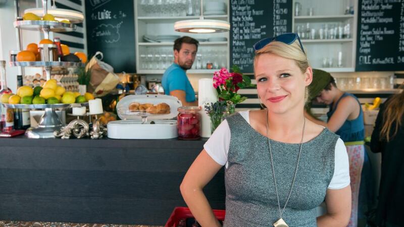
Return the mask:
MULTIPOLYGON (((296 39, 291 44, 286 44, 279 41, 272 41, 268 43, 263 48, 256 51, 254 58, 254 68, 257 64, 258 57, 262 54, 275 54, 285 59, 293 60, 297 67, 300 69, 301 73, 306 73, 307 68, 309 68, 309 60, 307 59, 306 50, 302 51, 300 48, 299 41, 296 39)), ((305 103, 309 100, 309 90, 306 87, 305 91, 305 103)))

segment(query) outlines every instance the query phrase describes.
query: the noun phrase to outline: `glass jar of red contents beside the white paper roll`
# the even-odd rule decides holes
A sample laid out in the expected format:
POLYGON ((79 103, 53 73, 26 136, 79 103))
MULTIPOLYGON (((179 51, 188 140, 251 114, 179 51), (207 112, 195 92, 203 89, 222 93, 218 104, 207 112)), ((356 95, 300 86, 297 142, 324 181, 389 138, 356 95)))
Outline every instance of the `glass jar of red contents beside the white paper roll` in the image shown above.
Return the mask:
POLYGON ((200 138, 199 106, 181 106, 178 108, 178 139, 197 140, 200 138))

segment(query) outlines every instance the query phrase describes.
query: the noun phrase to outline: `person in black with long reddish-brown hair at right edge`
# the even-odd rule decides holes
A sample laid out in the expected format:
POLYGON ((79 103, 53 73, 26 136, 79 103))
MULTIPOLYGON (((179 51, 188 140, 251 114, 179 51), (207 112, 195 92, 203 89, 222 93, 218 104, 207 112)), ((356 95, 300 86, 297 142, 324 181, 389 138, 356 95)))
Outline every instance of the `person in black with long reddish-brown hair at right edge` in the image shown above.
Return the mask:
MULTIPOLYGON (((404 84, 401 86, 404 88, 404 84)), ((402 226, 404 204, 404 92, 385 101, 377 115, 371 149, 382 153, 376 220, 379 226, 402 226)))

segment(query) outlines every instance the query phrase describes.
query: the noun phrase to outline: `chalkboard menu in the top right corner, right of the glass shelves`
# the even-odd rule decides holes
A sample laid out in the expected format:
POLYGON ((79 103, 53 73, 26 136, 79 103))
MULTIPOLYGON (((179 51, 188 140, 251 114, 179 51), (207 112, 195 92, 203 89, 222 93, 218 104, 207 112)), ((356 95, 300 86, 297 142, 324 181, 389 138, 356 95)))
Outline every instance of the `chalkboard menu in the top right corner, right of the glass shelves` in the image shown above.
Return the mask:
POLYGON ((360 0, 356 71, 404 70, 404 2, 360 0))

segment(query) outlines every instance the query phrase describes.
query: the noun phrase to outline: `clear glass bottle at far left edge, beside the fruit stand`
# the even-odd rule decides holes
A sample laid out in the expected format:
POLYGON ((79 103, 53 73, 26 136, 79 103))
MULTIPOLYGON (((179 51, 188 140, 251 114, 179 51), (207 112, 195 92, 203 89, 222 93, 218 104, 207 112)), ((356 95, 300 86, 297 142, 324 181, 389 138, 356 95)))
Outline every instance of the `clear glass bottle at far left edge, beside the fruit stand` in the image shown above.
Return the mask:
MULTIPOLYGON (((7 79, 6 79, 6 61, 0 61, 0 95, 10 94, 11 89, 7 87, 7 79)), ((12 108, 7 108, 1 106, 1 120, 0 120, 0 128, 2 132, 9 133, 14 129, 14 112, 12 108)))

